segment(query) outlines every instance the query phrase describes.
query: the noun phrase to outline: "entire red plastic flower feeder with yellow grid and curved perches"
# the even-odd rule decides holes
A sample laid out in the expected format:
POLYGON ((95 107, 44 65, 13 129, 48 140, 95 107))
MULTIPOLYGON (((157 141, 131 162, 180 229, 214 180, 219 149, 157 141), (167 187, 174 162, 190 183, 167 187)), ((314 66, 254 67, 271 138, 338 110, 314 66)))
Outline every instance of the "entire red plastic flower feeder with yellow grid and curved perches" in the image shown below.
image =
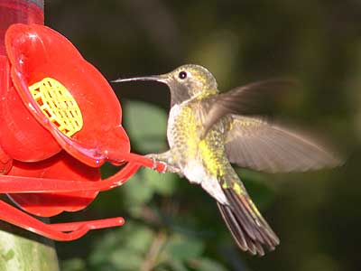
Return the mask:
MULTIPOLYGON (((0 56, 0 192, 23 210, 50 217, 82 210, 153 161, 130 153, 122 110, 101 73, 65 37, 39 24, 11 25, 0 56), (10 76, 9 76, 10 74, 10 76), (99 166, 127 164, 106 180, 99 166)), ((158 171, 163 170, 157 164, 158 171)), ((45 224, 0 201, 0 220, 57 240, 122 218, 45 224)))

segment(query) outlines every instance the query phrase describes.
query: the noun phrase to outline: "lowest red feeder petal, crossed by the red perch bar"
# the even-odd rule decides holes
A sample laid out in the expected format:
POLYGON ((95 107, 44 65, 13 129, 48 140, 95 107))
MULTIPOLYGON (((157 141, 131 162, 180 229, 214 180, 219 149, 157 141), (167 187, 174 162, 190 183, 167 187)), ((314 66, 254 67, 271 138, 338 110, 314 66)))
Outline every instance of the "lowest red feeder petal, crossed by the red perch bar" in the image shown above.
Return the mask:
MULTIPOLYGON (((99 169, 82 164, 65 152, 39 163, 14 161, 9 174, 42 179, 57 178, 65 181, 97 182, 101 180, 99 169)), ((34 179, 34 182, 39 181, 34 179)), ((9 194, 9 197, 23 210, 42 217, 51 217, 63 210, 82 210, 96 196, 97 192, 91 191, 9 194)))

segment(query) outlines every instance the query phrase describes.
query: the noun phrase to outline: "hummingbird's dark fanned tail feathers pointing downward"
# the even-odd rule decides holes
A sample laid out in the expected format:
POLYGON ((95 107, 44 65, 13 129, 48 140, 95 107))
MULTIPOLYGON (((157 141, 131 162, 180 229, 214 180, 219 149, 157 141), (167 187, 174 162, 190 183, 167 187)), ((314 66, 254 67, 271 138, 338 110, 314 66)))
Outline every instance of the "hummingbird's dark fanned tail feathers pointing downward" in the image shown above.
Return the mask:
POLYGON ((273 250, 280 239, 256 209, 246 192, 224 189, 229 206, 218 203, 218 208, 239 248, 251 254, 264 255, 264 248, 273 250))

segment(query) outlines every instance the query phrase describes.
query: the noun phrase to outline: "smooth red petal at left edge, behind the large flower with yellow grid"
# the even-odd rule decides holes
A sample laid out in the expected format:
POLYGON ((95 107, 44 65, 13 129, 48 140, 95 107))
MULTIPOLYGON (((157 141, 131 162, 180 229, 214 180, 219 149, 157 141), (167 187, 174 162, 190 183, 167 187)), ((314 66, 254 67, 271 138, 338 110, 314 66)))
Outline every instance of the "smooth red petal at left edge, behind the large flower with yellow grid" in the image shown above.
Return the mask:
POLYGON ((24 106, 9 80, 9 70, 7 58, 0 56, 0 145, 3 150, 13 159, 24 162, 42 161, 59 153, 60 145, 24 106))

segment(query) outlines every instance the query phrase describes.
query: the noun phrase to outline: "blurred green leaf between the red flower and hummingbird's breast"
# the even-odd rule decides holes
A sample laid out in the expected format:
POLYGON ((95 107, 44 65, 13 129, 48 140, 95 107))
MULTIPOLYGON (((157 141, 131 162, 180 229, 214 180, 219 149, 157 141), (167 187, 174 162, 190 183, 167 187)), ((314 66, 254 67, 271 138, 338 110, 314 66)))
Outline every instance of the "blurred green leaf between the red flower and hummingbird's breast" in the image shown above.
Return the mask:
POLYGON ((137 149, 145 154, 166 150, 167 114, 151 104, 129 100, 125 103, 124 123, 137 149))

